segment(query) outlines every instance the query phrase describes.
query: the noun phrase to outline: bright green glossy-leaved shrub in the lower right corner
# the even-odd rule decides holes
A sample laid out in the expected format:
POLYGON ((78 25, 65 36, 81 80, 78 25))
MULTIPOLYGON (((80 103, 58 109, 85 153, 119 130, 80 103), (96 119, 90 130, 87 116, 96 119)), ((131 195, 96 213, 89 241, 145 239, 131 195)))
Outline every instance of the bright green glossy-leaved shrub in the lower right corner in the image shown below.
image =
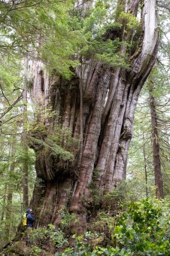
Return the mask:
POLYGON ((169 220, 163 202, 144 199, 129 206, 117 221, 113 242, 117 248, 139 255, 170 253, 169 220))

